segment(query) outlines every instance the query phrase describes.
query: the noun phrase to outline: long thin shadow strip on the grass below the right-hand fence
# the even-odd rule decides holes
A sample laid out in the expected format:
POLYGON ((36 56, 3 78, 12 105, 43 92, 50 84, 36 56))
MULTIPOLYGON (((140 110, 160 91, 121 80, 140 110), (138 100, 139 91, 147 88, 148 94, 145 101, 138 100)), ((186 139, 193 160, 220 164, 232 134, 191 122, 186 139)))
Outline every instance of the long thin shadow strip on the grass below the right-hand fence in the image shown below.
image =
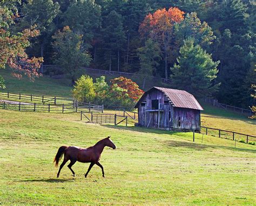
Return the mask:
POLYGON ((256 150, 246 149, 246 148, 239 148, 239 147, 230 147, 230 146, 221 146, 221 145, 207 145, 207 144, 198 144, 193 143, 192 141, 174 141, 169 140, 166 141, 166 143, 170 147, 186 147, 186 148, 193 148, 194 150, 206 150, 207 148, 221 148, 221 149, 227 149, 232 151, 241 151, 241 152, 252 152, 256 153, 256 150))

